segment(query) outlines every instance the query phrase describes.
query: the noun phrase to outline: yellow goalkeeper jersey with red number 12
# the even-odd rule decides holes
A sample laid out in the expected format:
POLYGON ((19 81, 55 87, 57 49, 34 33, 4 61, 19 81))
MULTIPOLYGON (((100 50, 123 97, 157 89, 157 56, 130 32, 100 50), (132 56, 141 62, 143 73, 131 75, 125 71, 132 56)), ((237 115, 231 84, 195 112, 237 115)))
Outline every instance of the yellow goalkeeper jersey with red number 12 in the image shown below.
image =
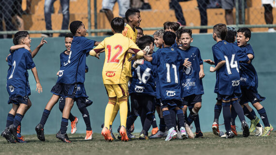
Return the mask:
POLYGON ((105 63, 103 67, 103 82, 108 85, 125 84, 126 83, 126 70, 124 69, 127 50, 131 49, 140 58, 144 53, 138 46, 129 38, 124 37, 121 33, 115 33, 111 37, 107 37, 103 42, 99 43, 90 55, 95 56, 97 53, 105 49, 105 63))

